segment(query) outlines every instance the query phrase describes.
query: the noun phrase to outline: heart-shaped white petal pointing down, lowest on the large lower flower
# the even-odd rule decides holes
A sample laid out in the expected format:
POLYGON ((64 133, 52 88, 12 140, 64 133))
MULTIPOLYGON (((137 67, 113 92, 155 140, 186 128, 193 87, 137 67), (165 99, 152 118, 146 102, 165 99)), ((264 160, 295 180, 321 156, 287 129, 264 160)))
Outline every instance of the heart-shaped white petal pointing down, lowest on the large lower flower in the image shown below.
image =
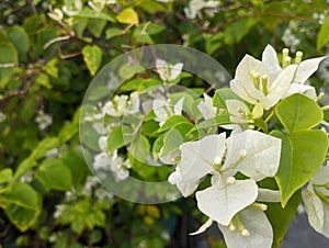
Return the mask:
POLYGON ((220 225, 227 226, 241 210, 254 202, 258 187, 252 179, 236 180, 232 184, 218 182, 195 194, 197 207, 220 225))

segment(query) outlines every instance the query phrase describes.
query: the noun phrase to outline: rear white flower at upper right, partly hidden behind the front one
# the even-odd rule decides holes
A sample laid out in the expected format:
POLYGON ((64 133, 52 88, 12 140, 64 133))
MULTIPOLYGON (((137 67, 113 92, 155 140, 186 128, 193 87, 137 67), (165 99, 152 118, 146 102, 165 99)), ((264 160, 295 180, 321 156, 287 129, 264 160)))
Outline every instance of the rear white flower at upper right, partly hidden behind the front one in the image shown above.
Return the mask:
MULTIPOLYGON (((282 67, 285 68, 287 65, 292 63, 292 58, 288 56, 288 49, 284 48, 282 50, 282 67)), ((310 86, 304 86, 307 79, 318 69, 319 64, 326 58, 310 58, 302 61, 302 52, 296 53, 295 65, 298 65, 294 79, 292 81, 291 88, 287 91, 285 97, 288 97, 293 93, 302 93, 306 97, 317 100, 315 88, 310 86)), ((270 71, 270 78, 275 78, 282 71, 282 67, 280 66, 277 55, 275 49, 268 45, 262 54, 262 61, 265 64, 268 70, 270 71)))

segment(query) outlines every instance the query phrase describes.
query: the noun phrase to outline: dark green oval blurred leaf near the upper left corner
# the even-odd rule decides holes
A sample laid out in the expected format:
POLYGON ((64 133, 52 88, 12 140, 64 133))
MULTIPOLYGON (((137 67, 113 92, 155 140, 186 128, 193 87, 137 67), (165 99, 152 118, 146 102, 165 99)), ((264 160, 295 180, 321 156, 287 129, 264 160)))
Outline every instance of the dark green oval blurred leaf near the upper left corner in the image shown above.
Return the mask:
POLYGON ((15 46, 16 50, 24 55, 27 53, 31 43, 27 33, 21 26, 11 26, 7 30, 7 36, 10 42, 15 46))

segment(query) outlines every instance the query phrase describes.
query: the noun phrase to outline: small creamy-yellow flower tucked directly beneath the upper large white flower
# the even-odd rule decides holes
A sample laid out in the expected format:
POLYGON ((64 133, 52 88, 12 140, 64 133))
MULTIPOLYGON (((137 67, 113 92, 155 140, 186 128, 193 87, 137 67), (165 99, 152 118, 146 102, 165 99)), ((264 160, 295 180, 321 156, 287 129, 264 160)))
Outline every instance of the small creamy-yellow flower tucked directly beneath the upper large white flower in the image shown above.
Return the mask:
POLYGON ((260 119, 263 115, 263 108, 260 103, 254 104, 252 112, 239 100, 226 100, 225 104, 232 123, 253 123, 253 120, 260 119))

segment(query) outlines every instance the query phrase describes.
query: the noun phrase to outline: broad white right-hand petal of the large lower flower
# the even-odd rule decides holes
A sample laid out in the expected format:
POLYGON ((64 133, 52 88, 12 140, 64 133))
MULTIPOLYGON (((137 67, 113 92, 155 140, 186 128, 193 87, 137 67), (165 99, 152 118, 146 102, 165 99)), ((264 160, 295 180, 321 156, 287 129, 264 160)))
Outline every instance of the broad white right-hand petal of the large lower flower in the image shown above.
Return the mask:
POLYGON ((248 129, 227 139, 226 161, 222 170, 226 170, 227 176, 235 174, 239 170, 247 177, 260 181, 274 177, 279 169, 280 157, 280 138, 248 129), (237 168, 228 170, 236 164, 241 150, 247 150, 247 157, 239 162, 237 168))

